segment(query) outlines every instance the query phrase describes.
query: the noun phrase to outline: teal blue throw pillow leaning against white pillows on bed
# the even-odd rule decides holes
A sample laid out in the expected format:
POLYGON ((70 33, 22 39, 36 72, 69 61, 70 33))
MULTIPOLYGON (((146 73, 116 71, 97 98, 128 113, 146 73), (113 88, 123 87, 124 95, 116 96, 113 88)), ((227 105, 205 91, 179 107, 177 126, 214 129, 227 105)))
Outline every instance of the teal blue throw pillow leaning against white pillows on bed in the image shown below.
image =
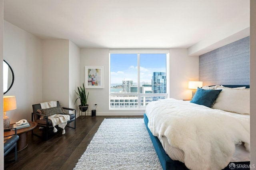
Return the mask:
POLYGON ((190 101, 191 103, 211 107, 222 90, 204 90, 197 88, 196 94, 190 101))

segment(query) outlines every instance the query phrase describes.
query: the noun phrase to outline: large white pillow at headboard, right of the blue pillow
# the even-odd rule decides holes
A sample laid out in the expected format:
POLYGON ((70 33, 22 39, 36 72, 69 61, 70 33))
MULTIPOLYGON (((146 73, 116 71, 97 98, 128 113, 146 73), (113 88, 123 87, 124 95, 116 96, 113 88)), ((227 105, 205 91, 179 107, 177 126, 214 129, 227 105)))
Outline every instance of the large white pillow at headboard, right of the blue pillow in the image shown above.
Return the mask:
POLYGON ((250 89, 218 87, 220 94, 212 108, 240 114, 250 114, 250 89))

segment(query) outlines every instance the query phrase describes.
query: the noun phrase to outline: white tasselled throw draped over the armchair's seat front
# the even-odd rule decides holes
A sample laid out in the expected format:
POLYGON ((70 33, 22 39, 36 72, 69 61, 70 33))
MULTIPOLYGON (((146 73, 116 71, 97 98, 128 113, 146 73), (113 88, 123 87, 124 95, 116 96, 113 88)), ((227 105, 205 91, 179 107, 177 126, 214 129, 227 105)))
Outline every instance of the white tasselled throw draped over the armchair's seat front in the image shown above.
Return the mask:
POLYGON ((57 132, 57 128, 55 128, 56 125, 58 125, 60 128, 62 128, 62 134, 65 134, 65 126, 67 125, 67 122, 70 120, 70 116, 66 114, 54 114, 51 116, 48 116, 48 119, 52 121, 53 132, 57 132))

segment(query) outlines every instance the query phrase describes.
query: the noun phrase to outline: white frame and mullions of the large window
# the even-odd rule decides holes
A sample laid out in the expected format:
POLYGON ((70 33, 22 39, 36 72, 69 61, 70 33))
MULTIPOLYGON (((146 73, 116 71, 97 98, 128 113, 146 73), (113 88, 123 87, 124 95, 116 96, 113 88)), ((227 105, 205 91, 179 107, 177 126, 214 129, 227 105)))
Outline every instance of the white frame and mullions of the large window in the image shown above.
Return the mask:
POLYGON ((145 110, 146 106, 141 106, 141 98, 142 97, 154 97, 154 96, 164 96, 169 98, 170 95, 170 51, 169 50, 109 50, 109 110, 145 110), (138 86, 137 93, 111 93, 111 68, 110 68, 110 55, 111 54, 137 54, 138 60, 138 70, 137 70, 137 81, 140 84, 140 54, 166 54, 166 93, 140 93, 140 87, 138 86), (138 107, 117 107, 111 108, 110 98, 111 96, 137 96, 138 107))

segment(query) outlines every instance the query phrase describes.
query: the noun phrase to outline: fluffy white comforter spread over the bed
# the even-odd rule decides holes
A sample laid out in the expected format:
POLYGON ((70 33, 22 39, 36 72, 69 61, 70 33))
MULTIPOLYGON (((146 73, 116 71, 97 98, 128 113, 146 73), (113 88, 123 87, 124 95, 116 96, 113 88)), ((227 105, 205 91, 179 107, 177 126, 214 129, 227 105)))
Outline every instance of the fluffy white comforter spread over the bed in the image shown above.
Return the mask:
POLYGON ((183 150, 190 170, 221 170, 244 142, 250 151, 250 116, 224 112, 183 100, 152 102, 146 110, 154 136, 166 136, 170 145, 183 150))

